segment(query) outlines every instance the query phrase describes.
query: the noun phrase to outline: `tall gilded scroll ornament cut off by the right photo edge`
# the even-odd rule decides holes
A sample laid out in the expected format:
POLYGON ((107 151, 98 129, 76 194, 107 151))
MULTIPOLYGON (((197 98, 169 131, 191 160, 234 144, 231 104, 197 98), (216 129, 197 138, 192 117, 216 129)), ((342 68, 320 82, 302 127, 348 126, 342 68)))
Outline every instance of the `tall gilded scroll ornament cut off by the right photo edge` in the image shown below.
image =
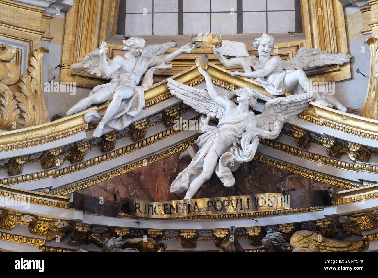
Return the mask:
POLYGON ((378 120, 378 39, 369 37, 364 40, 370 48, 370 76, 369 87, 365 96, 364 103, 360 109, 361 116, 378 120))

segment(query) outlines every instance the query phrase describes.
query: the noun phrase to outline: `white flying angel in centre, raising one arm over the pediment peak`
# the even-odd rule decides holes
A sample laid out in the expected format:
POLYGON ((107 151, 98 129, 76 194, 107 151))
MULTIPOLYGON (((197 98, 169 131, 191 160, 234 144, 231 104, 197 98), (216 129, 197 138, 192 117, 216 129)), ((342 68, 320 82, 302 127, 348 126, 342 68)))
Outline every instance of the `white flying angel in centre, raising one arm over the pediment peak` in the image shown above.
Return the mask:
POLYGON ((252 160, 259 137, 276 138, 283 123, 303 112, 314 98, 310 93, 304 93, 271 99, 248 87, 223 95, 217 92, 208 73, 201 67, 198 69, 205 78, 207 90, 183 85, 170 78, 167 84, 172 95, 203 113, 200 129, 204 134, 197 140, 199 151, 195 155, 192 148, 184 152, 191 155, 192 161, 178 174, 169 190, 172 193, 186 190, 184 200, 188 202, 214 170, 224 186, 233 186, 235 179, 231 171, 239 168, 240 163, 252 160), (235 95, 239 105, 230 100, 235 95), (266 100, 264 112, 259 115, 250 109, 257 108, 257 98, 266 100), (209 125, 210 117, 219 119, 218 126, 209 125))

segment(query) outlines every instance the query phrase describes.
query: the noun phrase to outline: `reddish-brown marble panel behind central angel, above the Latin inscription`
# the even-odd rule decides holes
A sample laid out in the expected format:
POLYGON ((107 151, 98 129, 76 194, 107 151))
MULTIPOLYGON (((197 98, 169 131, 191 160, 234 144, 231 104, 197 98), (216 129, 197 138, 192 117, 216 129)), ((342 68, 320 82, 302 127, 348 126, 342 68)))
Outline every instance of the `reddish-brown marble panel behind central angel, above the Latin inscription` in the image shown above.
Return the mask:
MULTIPOLYGON (((134 171, 83 188, 79 192, 112 200, 114 182, 119 190, 117 196, 155 202, 182 199, 185 194, 172 194, 169 192, 169 186, 189 162, 190 157, 180 160, 179 154, 170 155, 134 171)), ((283 182, 285 188, 295 188, 296 190, 327 189, 326 183, 283 171, 255 160, 243 163, 234 172, 234 177, 234 187, 225 187, 214 173, 211 179, 201 186, 194 198, 278 193, 280 192, 280 182, 283 182)), ((344 189, 337 186, 331 187, 338 191, 344 189)))

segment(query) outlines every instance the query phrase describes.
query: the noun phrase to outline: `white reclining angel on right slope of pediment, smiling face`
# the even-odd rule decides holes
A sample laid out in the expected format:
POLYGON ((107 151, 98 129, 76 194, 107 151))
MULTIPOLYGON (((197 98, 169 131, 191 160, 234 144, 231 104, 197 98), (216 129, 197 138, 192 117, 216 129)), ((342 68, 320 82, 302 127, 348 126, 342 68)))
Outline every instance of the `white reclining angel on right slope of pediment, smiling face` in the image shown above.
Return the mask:
POLYGON ((223 40, 222 47, 214 46, 213 50, 219 61, 226 67, 240 65, 243 68, 243 73, 233 71, 232 76, 239 75, 254 79, 271 95, 313 93, 314 102, 330 108, 335 106, 338 110, 347 112, 347 108, 333 96, 334 92, 329 92, 329 89, 325 90, 328 92, 321 92, 322 90, 316 92, 304 70, 324 65, 342 65, 350 62, 351 55, 346 53, 333 54, 312 47, 301 47, 292 59, 284 61, 279 56, 270 56, 274 45, 272 36, 263 34, 256 38, 253 45, 259 52, 258 58, 249 55, 245 44, 242 42, 223 40), (236 57, 226 59, 224 55, 236 57))

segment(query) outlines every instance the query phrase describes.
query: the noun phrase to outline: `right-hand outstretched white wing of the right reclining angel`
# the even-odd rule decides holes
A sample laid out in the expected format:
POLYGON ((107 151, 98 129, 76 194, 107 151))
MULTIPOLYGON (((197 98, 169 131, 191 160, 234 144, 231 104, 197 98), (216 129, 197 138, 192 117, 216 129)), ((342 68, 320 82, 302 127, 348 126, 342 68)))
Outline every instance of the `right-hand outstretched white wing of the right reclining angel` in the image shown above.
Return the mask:
POLYGON ((347 53, 328 53, 312 47, 301 47, 298 53, 289 60, 282 61, 284 70, 308 70, 324 65, 342 65, 350 62, 351 55, 347 53))

